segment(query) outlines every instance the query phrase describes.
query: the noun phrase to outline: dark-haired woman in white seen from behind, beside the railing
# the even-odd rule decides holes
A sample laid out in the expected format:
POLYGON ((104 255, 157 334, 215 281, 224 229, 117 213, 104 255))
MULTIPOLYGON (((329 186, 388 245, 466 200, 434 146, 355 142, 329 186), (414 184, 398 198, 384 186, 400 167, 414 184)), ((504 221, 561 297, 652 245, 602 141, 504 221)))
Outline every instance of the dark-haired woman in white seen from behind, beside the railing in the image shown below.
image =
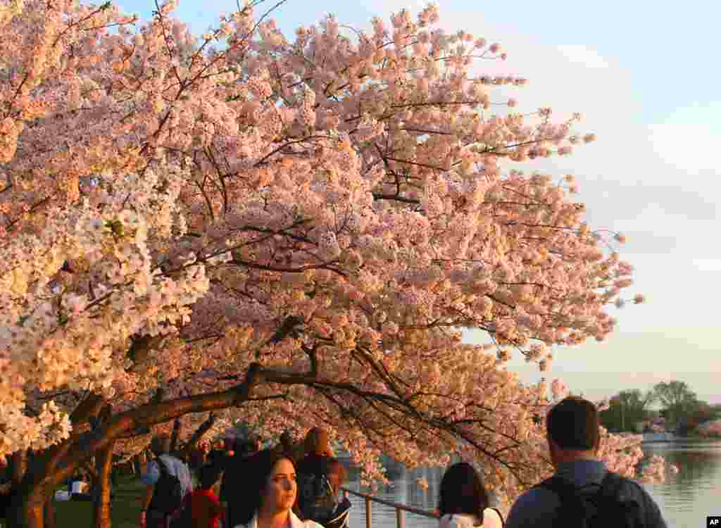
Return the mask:
POLYGON ((454 464, 443 474, 438 514, 438 528, 503 528, 503 517, 488 506, 481 477, 467 462, 454 464))

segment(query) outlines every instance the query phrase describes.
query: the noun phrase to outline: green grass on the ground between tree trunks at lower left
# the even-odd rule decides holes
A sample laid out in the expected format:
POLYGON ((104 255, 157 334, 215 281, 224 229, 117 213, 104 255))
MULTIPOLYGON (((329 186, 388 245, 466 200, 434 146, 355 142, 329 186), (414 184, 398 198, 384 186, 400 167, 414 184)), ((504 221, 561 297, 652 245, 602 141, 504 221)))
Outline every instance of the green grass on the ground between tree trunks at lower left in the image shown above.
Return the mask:
MULTIPOLYGON (((119 476, 116 484, 110 502, 112 528, 138 528, 145 485, 137 475, 119 476)), ((53 506, 57 528, 92 527, 92 502, 53 501, 53 506)))

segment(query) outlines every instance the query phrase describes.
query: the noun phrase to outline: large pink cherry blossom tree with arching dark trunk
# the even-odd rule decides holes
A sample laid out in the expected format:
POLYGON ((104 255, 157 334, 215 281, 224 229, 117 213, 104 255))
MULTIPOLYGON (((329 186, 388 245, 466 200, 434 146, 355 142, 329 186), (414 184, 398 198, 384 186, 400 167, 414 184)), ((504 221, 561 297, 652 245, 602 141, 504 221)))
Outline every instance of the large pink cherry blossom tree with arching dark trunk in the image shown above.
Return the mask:
MULTIPOLYGON (((572 176, 532 169, 595 136, 505 110, 526 79, 474 69, 500 45, 433 6, 291 41, 252 3, 195 38, 172 1, 139 28, 1 1, 0 454, 32 450, 11 526, 42 527, 89 457, 211 411, 322 425, 366 478, 381 452, 459 452, 508 503, 549 473, 552 399, 505 361, 606 338, 632 267, 572 176)), ((632 475, 636 439, 604 439, 632 475)))

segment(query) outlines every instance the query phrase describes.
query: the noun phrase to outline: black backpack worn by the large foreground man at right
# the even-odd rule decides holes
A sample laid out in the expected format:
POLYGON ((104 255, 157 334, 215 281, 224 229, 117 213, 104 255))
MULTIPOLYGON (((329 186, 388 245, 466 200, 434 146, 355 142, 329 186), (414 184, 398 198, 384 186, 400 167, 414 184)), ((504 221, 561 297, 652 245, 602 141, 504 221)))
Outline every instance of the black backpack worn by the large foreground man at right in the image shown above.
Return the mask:
POLYGON ((623 501, 619 490, 626 479, 608 472, 601 485, 589 484, 580 488, 568 480, 552 477, 537 485, 537 488, 552 490, 559 496, 559 527, 573 528, 642 528, 640 505, 637 501, 623 501), (598 488, 591 493, 590 488, 598 488))

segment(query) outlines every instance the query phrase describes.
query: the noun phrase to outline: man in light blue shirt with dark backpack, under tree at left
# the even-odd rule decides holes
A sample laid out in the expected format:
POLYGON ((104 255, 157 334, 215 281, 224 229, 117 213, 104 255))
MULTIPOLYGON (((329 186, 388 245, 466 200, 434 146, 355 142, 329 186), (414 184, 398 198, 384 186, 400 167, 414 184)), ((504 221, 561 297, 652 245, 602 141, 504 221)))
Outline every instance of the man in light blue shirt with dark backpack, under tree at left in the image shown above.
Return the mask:
POLYGON ((193 491, 190 470, 185 462, 169 454, 170 437, 155 436, 150 444, 155 459, 148 462, 141 475, 146 485, 141 509, 142 528, 167 528, 168 518, 182 506, 187 493, 193 491))

